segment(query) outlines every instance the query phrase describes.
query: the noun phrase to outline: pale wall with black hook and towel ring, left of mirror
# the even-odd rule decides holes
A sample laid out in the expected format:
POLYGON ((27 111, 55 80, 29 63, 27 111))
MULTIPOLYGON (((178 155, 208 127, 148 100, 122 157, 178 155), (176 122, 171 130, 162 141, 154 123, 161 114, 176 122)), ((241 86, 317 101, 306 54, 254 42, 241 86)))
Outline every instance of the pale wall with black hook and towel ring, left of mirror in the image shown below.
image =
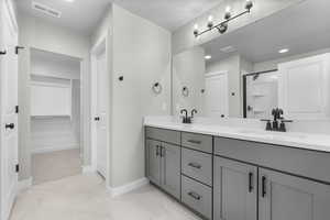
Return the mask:
POLYGON ((143 117, 170 113, 170 33, 113 4, 111 187, 143 178, 143 117), (118 77, 123 76, 123 81, 118 77), (163 92, 152 91, 160 81, 163 92))

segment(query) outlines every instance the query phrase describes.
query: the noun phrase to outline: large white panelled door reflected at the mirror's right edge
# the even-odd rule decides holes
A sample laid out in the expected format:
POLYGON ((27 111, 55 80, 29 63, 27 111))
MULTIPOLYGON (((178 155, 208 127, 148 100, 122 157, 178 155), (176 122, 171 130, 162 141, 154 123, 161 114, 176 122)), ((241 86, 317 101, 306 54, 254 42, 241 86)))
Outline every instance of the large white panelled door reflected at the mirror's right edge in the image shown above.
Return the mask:
POLYGON ((278 66, 279 107, 284 109, 285 117, 329 118, 329 54, 323 54, 278 66))

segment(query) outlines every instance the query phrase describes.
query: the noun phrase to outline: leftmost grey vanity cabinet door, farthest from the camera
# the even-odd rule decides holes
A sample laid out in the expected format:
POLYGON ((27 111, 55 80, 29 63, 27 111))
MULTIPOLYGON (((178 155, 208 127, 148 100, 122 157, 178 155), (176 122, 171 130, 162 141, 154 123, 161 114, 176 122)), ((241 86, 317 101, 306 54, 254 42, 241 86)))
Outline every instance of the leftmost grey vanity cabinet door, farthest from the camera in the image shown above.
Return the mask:
POLYGON ((147 140, 147 178, 161 185, 161 142, 147 140))

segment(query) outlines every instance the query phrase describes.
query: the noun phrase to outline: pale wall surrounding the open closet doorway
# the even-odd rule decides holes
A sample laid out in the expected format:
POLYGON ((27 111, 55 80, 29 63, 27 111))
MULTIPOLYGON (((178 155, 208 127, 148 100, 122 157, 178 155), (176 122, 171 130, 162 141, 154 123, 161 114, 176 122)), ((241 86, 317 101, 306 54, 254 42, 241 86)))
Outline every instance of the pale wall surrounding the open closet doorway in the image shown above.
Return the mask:
MULTIPOLYGON (((22 167, 20 179, 26 179, 31 176, 31 130, 30 130, 30 73, 31 73, 31 48, 43 50, 57 54, 65 54, 72 57, 82 59, 81 87, 84 91, 84 103, 81 113, 89 116, 89 48, 88 37, 73 32, 65 28, 59 28, 42 19, 35 19, 19 13, 20 45, 24 46, 19 56, 19 105, 20 105, 20 131, 19 131, 19 160, 22 167)), ((89 121, 88 121, 89 122, 89 121)), ((90 164, 90 144, 89 144, 89 123, 84 123, 84 164, 90 164)))

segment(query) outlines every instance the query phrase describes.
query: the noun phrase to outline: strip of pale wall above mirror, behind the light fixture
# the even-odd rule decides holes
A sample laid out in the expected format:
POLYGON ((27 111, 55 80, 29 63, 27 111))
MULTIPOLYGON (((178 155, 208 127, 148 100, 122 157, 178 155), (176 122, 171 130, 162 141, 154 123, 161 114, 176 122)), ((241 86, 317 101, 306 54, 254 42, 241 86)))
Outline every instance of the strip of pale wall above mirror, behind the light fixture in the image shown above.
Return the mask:
MULTIPOLYGON (((230 23, 228 32, 232 32, 250 23, 256 22, 265 16, 301 1, 305 0, 253 0, 254 7, 252 8, 251 13, 230 23)), ((215 30, 213 32, 205 34, 197 40, 193 34, 194 25, 195 23, 198 23, 200 28, 206 28, 208 16, 210 14, 213 15, 215 23, 223 21, 224 9, 227 6, 231 6, 233 13, 239 13, 244 10, 244 2, 245 0, 222 0, 215 9, 211 9, 210 11, 176 30, 173 33, 173 53, 178 54, 196 45, 201 45, 206 42, 209 42, 216 37, 221 37, 219 32, 215 30)))

